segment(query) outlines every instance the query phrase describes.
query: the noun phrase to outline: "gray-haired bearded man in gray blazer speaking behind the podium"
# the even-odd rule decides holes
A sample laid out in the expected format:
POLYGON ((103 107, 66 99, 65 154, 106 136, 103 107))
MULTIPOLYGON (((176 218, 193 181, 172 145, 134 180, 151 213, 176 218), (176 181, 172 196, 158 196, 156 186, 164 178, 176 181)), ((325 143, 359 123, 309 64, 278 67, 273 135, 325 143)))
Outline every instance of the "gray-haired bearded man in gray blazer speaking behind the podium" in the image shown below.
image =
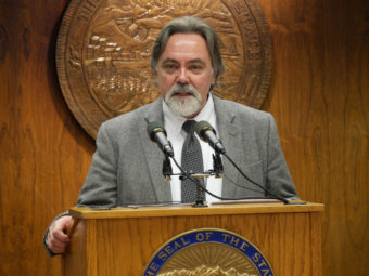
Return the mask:
MULTIPOLYGON (((195 17, 176 18, 166 24, 155 41, 151 67, 156 73, 161 97, 102 123, 78 206, 195 200, 196 187, 188 179, 175 175, 170 182, 164 181, 163 153, 147 133, 148 123, 153 121, 165 126, 167 140, 171 142, 166 145, 173 150, 169 155, 186 171, 201 173, 214 166, 214 149, 193 132, 196 121, 206 121, 213 126, 214 134, 221 137, 227 154, 246 174, 244 179, 222 158, 224 178, 209 178, 203 184, 212 194, 203 195, 207 201, 273 194, 297 199, 272 116, 212 93, 225 66, 217 34, 208 24, 195 17)), ((173 170, 174 174, 180 172, 175 166, 173 170)), ((65 251, 69 242, 66 229, 72 221, 63 213, 49 227, 44 245, 51 255, 65 251)))

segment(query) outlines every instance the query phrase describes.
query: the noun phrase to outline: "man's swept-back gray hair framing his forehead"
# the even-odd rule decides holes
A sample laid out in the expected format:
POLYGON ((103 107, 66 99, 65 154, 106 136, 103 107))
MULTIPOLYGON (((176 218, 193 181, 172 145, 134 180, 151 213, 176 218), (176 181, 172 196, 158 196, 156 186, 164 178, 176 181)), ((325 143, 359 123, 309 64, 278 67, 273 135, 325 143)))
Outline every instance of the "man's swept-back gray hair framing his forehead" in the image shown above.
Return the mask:
POLYGON ((198 34, 202 36, 206 41, 207 50, 212 57, 212 66, 216 71, 216 78, 225 71, 217 34, 206 22, 193 16, 184 16, 173 19, 163 27, 154 43, 150 61, 150 66, 154 71, 157 69, 157 61, 164 52, 169 37, 175 34, 198 34))

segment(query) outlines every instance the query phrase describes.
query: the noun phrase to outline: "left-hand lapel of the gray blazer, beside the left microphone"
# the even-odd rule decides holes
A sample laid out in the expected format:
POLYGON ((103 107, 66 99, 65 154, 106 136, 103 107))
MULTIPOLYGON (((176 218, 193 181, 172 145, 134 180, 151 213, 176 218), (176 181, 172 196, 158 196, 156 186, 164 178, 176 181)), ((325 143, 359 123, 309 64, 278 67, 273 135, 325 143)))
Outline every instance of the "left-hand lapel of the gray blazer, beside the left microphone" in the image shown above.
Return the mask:
POLYGON ((143 152, 145 155, 147 166, 149 170, 149 174, 154 186, 157 201, 160 202, 168 202, 171 201, 171 193, 170 193, 170 182, 164 181, 163 176, 163 160, 164 154, 158 148, 156 143, 152 142, 147 132, 147 121, 145 119, 151 121, 157 121, 164 124, 163 119, 163 106, 162 106, 162 97, 156 100, 151 106, 148 113, 143 115, 142 120, 140 121, 140 139, 143 147, 143 152))

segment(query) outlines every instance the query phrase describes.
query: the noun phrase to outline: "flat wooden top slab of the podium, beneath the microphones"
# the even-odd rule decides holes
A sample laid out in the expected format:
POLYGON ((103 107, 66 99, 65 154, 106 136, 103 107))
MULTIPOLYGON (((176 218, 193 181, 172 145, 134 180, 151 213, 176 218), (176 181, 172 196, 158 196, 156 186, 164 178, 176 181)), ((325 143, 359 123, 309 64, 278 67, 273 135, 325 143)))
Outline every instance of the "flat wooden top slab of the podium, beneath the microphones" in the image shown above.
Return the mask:
POLYGON ((150 216, 179 215, 224 215, 224 214, 260 214, 260 213, 301 213, 322 212, 322 203, 304 202, 302 205, 284 205, 282 202, 252 203, 217 203, 204 208, 193 208, 189 205, 177 206, 131 206, 116 208, 74 207, 69 214, 79 219, 124 219, 150 216))

